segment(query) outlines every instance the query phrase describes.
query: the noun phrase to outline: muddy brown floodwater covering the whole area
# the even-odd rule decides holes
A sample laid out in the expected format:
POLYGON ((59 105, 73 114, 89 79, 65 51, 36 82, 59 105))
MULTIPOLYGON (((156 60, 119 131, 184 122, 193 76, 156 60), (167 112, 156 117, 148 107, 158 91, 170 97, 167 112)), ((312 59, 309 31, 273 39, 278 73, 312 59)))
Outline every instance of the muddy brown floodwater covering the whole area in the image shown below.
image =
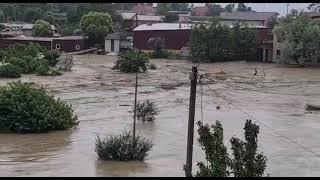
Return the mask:
MULTIPOLYGON (((137 133, 154 147, 144 162, 112 162, 98 160, 95 138, 132 128, 135 75, 111 70, 110 56, 74 59, 73 71, 62 76, 24 75, 21 80, 42 84, 72 104, 80 124, 47 134, 0 134, 0 176, 184 176, 192 64, 152 60, 158 69, 139 74, 138 100, 155 101, 160 115, 151 123, 137 122, 137 133)), ((320 153, 320 113, 304 110, 306 103, 320 104, 319 69, 246 62, 201 64, 199 69, 207 79, 197 87, 196 121, 201 120, 202 89, 203 121, 221 121, 228 147, 232 136, 243 139, 248 113, 263 123, 258 123, 259 150, 268 158, 266 174, 320 176, 319 156, 274 132, 320 153)), ((194 172, 204 159, 197 138, 195 125, 194 172)))

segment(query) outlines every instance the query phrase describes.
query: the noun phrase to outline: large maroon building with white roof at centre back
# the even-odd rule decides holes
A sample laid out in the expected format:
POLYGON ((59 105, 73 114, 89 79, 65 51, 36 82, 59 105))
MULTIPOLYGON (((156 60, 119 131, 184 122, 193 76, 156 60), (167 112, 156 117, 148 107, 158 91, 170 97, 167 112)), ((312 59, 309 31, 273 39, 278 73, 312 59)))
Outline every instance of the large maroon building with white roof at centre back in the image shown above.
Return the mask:
POLYGON ((133 46, 141 50, 150 50, 150 40, 161 37, 166 49, 180 52, 183 47, 188 46, 190 31, 190 24, 142 24, 133 30, 133 46))

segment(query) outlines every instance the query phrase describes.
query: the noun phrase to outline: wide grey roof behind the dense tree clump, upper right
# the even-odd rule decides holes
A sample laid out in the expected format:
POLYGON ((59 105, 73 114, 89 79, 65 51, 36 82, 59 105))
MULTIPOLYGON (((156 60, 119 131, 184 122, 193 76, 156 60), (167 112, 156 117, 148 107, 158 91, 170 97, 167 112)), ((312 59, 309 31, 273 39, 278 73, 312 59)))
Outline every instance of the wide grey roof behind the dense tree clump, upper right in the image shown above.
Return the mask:
POLYGON ((218 19, 222 20, 256 20, 256 21, 263 21, 267 20, 273 15, 279 15, 277 12, 222 12, 220 16, 217 17, 218 19))

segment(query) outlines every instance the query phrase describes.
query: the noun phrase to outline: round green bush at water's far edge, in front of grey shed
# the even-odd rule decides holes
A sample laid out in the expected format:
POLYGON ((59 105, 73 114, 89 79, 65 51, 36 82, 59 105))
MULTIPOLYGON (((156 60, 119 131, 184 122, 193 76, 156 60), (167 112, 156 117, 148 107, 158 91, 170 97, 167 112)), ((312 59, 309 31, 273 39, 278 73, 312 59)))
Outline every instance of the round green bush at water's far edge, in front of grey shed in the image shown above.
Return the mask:
POLYGON ((138 50, 127 50, 119 54, 119 59, 116 61, 114 69, 119 69, 122 72, 144 72, 147 70, 149 57, 146 53, 138 50))

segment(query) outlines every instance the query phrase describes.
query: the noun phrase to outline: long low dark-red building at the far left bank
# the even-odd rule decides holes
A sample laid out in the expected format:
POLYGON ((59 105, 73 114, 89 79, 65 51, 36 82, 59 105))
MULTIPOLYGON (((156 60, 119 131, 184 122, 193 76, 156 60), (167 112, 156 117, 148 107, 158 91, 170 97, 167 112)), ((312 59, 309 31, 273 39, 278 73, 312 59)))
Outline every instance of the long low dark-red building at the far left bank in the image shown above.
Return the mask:
POLYGON ((0 48, 7 48, 14 44, 37 43, 49 50, 57 49, 63 52, 76 52, 88 49, 87 37, 64 36, 64 37, 30 37, 16 36, 0 39, 0 48))

